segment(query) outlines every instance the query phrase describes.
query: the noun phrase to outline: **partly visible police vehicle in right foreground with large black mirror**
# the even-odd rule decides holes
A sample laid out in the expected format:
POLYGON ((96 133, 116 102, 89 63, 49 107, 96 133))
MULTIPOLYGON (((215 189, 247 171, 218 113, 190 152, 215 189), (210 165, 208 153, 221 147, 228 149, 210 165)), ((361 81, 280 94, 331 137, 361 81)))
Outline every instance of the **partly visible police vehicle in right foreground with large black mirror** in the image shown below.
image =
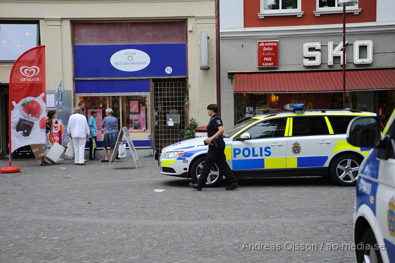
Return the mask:
POLYGON ((395 111, 383 134, 377 117, 352 120, 347 141, 373 148, 360 165, 356 184, 357 261, 395 263, 395 111))

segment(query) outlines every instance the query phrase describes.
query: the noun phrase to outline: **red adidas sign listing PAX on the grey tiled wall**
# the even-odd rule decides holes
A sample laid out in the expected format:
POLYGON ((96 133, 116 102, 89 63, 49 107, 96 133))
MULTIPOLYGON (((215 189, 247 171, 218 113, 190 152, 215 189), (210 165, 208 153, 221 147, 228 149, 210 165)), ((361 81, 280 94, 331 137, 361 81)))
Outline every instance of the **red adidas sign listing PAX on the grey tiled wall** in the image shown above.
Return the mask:
POLYGON ((258 68, 278 67, 278 40, 258 41, 258 68))

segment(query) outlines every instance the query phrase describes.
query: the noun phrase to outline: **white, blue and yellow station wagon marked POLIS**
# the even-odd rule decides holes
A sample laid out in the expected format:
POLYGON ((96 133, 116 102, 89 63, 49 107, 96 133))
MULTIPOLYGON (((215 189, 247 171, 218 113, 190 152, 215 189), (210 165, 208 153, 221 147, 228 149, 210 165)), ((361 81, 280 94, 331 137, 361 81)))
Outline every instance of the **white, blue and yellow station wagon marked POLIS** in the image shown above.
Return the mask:
MULTIPOLYGON (((237 178, 266 176, 330 176, 339 185, 355 185, 359 165, 370 148, 346 140, 350 121, 375 113, 356 110, 304 110, 304 104, 286 104, 285 111, 252 117, 225 131, 225 156, 237 178)), ((204 138, 174 143, 162 149, 163 175, 200 176, 207 146, 204 138)), ((222 179, 215 164, 206 186, 222 179)))

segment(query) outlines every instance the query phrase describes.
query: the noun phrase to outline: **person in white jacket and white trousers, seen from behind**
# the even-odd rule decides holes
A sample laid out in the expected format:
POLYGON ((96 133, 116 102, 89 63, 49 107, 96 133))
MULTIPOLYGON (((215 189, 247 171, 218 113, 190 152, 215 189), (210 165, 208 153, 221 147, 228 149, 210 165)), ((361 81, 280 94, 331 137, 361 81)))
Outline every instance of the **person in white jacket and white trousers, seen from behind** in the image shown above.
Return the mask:
POLYGON ((89 127, 79 107, 73 109, 73 115, 70 116, 67 124, 67 134, 73 140, 75 165, 86 165, 84 163, 85 141, 89 137, 89 127))

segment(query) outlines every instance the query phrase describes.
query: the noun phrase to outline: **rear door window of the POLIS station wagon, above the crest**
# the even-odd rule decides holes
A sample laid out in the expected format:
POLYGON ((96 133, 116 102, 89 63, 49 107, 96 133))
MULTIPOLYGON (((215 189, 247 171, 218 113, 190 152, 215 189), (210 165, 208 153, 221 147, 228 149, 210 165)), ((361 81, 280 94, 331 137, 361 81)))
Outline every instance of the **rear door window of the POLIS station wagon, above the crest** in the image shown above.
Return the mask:
POLYGON ((292 136, 325 135, 329 134, 325 118, 293 117, 292 136))

